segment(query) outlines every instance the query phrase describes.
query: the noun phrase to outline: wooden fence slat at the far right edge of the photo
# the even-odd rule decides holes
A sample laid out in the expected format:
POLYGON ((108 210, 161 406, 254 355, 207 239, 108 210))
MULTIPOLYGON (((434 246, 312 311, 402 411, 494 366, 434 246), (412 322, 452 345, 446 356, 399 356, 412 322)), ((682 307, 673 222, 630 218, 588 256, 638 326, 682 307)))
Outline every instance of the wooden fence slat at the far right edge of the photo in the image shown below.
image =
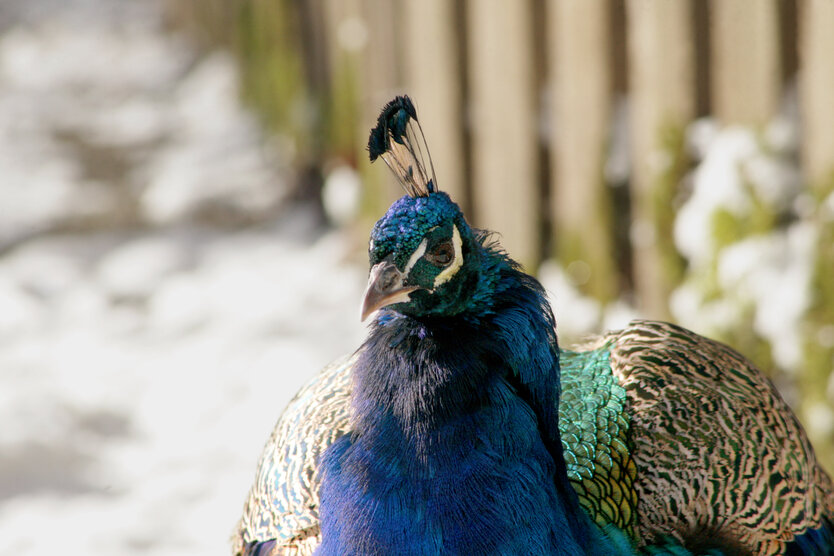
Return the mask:
POLYGON ((802 163, 817 201, 812 306, 799 377, 801 416, 817 456, 834 471, 834 2, 807 0, 800 12, 802 163))

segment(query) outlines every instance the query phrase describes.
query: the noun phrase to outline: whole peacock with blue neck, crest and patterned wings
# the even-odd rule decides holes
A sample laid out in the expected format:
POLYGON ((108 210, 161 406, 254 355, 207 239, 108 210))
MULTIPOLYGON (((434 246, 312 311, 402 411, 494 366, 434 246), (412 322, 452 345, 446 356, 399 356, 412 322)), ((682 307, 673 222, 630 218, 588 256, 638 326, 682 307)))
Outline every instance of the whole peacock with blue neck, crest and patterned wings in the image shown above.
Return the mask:
POLYGON ((831 480, 749 361, 645 320, 560 348, 408 97, 368 148, 407 194, 371 232, 367 339, 279 418, 235 554, 834 554, 831 480))

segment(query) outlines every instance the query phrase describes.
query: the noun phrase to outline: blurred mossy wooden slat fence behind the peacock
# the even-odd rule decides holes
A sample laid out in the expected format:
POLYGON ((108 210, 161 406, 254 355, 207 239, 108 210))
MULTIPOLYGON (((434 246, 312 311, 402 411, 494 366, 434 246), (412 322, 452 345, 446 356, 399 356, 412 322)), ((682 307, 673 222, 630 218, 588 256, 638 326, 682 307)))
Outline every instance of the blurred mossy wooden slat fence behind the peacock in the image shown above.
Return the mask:
MULTIPOLYGON (((587 293, 633 291, 653 316, 667 314, 682 272, 672 203, 690 168, 683 139, 693 119, 763 126, 799 79, 802 114, 811 115, 802 136, 809 183, 834 166, 831 0, 175 6, 241 52, 249 96, 276 127, 295 130, 300 165, 337 156, 367 172, 366 129, 387 99, 407 92, 441 187, 474 224, 500 230, 531 268, 552 255, 565 267, 581 262, 591 269, 580 280, 587 293), (605 162, 622 98, 631 172, 618 195, 605 162)), ((396 194, 386 190, 374 209, 396 194)))

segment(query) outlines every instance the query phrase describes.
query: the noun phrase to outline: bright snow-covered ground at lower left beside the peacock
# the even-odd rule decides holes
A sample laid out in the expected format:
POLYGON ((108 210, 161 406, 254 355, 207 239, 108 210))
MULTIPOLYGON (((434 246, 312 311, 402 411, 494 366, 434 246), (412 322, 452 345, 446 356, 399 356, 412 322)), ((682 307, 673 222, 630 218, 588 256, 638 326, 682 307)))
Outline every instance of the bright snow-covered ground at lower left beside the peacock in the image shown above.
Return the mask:
POLYGON ((203 231, 190 264, 182 242, 85 265, 89 238, 65 236, 63 262, 34 242, 0 263, 0 554, 225 554, 280 410, 359 345, 343 236, 203 231), (71 270, 36 293, 38 265, 71 270))

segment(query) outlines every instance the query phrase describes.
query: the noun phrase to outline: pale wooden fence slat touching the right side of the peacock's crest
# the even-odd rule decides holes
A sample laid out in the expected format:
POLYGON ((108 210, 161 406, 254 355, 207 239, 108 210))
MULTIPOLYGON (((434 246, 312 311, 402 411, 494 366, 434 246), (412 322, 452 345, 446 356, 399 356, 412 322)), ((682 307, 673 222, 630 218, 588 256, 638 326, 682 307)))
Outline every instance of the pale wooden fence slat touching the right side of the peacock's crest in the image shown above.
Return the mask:
POLYGON ((416 104, 438 186, 467 211, 456 12, 449 0, 405 0, 403 54, 405 89, 416 104))

